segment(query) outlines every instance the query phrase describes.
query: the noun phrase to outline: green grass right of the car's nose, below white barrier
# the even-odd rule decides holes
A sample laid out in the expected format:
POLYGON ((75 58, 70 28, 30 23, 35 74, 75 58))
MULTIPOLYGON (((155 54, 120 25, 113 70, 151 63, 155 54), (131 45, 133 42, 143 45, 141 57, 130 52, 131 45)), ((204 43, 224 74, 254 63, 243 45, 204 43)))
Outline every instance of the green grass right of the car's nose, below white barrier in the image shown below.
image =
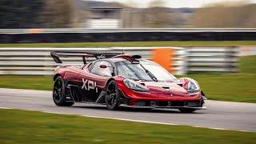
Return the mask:
POLYGON ((232 102, 256 103, 256 56, 240 58, 239 73, 189 74, 196 79, 207 98, 232 102))

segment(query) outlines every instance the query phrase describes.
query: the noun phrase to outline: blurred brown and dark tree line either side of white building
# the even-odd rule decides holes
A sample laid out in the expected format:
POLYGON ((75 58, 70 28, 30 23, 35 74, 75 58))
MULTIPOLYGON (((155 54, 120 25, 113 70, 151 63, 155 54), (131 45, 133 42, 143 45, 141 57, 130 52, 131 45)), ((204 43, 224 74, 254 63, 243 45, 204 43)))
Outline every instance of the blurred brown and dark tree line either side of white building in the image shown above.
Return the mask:
MULTIPOLYGON (((75 1, 0 0, 0 29, 83 27, 90 12, 78 9, 75 1)), ((141 10, 124 6, 123 27, 256 27, 256 4, 221 2, 187 14, 165 6, 157 0, 141 10)))

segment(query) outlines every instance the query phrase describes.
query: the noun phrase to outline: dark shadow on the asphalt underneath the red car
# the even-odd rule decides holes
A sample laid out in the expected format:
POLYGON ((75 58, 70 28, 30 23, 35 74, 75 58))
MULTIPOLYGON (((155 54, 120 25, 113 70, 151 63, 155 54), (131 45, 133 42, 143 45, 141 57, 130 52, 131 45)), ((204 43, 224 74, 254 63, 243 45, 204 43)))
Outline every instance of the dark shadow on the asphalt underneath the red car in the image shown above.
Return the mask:
MULTIPOLYGON (((72 108, 86 108, 91 110, 107 110, 106 106, 72 106, 72 108)), ((122 111, 122 112, 134 112, 134 113, 162 113, 162 114, 184 114, 175 109, 149 109, 149 108, 130 108, 130 107, 118 107, 117 110, 108 111, 122 111)), ((193 114, 205 114, 204 110, 197 110, 193 114)))

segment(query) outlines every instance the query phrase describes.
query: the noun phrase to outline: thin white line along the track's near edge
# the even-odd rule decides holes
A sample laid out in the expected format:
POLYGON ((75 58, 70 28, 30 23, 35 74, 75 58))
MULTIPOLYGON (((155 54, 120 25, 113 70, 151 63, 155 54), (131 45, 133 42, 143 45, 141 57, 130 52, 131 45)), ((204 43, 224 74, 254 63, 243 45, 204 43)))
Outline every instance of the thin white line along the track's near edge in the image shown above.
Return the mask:
MULTIPOLYGON (((10 107, 0 107, 0 109, 22 110, 22 109, 10 108, 10 107)), ((126 119, 126 118, 110 118, 110 117, 100 117, 100 116, 82 115, 82 114, 68 114, 68 113, 60 113, 60 112, 52 112, 52 111, 44 111, 44 110, 29 110, 29 111, 39 111, 42 113, 49 113, 49 114, 78 115, 78 116, 89 117, 89 118, 105 118, 105 119, 113 119, 113 120, 120 120, 120 121, 127 121, 127 122, 143 122, 143 123, 169 125, 169 126, 190 126, 190 125, 178 125, 178 124, 174 124, 174 123, 165 123, 165 122, 141 121, 141 120, 134 120, 134 119, 126 119)), ((191 127, 206 128, 206 129, 212 129, 212 130, 230 130, 230 129, 223 129, 223 128, 219 128, 219 127, 204 127, 204 126, 191 126, 191 127)), ((248 131, 248 130, 232 130, 232 131, 254 133, 254 131, 248 131)))

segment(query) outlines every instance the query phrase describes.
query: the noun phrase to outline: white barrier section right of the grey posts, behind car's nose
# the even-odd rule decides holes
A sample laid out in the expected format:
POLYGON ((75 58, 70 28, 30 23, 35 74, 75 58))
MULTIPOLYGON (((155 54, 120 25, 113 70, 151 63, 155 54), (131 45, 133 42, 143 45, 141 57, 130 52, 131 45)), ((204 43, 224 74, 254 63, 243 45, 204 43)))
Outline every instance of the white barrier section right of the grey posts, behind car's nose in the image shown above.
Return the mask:
POLYGON ((188 47, 188 71, 236 72, 238 47, 188 47))

